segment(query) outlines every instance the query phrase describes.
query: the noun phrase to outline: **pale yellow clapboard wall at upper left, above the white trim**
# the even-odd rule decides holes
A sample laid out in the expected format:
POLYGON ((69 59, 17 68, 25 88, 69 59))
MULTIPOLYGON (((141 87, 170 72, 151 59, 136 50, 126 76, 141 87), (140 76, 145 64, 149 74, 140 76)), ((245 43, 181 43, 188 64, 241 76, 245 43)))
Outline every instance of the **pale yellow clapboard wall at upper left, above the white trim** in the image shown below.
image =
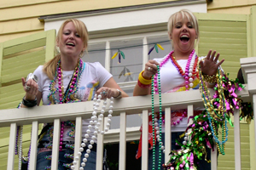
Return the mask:
POLYGON ((122 8, 134 5, 174 2, 175 0, 2 0, 0 1, 0 42, 44 31, 39 16, 122 8))

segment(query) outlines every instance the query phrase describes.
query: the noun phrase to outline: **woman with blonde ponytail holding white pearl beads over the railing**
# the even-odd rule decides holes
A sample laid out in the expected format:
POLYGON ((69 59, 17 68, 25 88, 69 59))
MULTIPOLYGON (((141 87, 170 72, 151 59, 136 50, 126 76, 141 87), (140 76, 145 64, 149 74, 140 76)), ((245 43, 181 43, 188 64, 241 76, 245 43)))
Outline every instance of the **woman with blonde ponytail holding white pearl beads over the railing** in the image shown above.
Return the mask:
MULTIPOLYGON (((119 88, 113 76, 98 62, 84 62, 81 57, 88 46, 88 31, 80 20, 66 20, 56 37, 56 46, 59 54, 44 65, 38 66, 30 77, 38 77, 26 81, 22 78, 23 88, 26 92, 21 107, 33 107, 43 101, 43 105, 56 105, 92 100, 93 96, 100 99, 120 99, 128 95, 119 88), (101 95, 99 95, 101 94, 101 95), (100 97, 101 96, 101 97, 100 97)), ((96 169, 96 122, 83 120, 82 133, 86 140, 81 145, 81 168, 96 169), (92 128, 93 127, 93 128, 92 128), (93 133, 89 134, 90 130, 93 133), (90 150, 86 159, 84 154, 90 150), (84 158, 84 159, 83 159, 84 158)), ((101 132, 100 132, 101 133, 101 132)), ((74 168, 73 144, 74 122, 61 122, 58 169, 74 168)), ((38 138, 37 170, 50 169, 51 148, 53 139, 53 123, 45 124, 38 138)))

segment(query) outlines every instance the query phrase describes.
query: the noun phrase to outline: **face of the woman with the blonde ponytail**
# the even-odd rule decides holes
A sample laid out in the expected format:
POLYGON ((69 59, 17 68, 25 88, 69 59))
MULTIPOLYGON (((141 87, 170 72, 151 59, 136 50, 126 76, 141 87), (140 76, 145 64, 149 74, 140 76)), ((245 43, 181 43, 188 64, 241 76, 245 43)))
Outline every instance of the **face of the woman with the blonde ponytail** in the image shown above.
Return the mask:
POLYGON ((84 51, 84 42, 76 31, 73 22, 68 22, 63 28, 63 33, 57 41, 57 46, 60 48, 61 55, 71 56, 75 59, 84 51))

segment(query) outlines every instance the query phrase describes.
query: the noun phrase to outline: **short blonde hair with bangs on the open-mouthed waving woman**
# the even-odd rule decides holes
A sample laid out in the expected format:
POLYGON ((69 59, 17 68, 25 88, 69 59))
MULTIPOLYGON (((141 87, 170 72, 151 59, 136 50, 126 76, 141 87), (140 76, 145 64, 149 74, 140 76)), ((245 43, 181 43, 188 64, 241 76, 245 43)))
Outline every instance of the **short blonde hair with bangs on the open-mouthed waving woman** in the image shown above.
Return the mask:
POLYGON ((174 13, 170 16, 170 18, 168 20, 168 24, 167 24, 168 35, 170 36, 170 34, 172 34, 173 26, 175 25, 177 20, 180 20, 180 18, 182 20, 185 20, 185 19, 189 20, 191 25, 195 28, 195 33, 197 35, 197 38, 196 38, 196 44, 197 44, 199 42, 198 21, 197 21, 195 15, 191 11, 189 11, 188 9, 181 9, 177 13, 174 13))

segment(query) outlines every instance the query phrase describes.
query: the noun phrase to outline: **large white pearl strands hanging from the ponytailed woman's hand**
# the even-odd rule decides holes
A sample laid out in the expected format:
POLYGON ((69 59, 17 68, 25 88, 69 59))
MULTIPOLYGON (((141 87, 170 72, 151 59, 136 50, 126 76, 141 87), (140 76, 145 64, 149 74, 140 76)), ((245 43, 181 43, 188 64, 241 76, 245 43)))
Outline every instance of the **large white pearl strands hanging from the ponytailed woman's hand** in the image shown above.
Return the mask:
POLYGON ((71 169, 75 168, 75 165, 77 165, 77 161, 79 161, 79 157, 82 156, 82 152, 84 151, 84 147, 86 146, 86 143, 88 143, 88 138, 89 134, 93 131, 93 135, 91 136, 90 139, 90 144, 88 144, 88 149, 86 150, 86 154, 84 154, 84 158, 82 159, 83 162, 81 162, 81 167, 79 167, 79 170, 84 170, 85 167, 85 162, 87 161, 87 158, 89 157, 90 150, 93 147, 93 144, 95 144, 95 140, 97 139, 97 133, 104 134, 105 132, 108 132, 110 123, 111 123, 111 118, 112 118, 112 113, 113 113, 113 97, 110 98, 110 105, 109 105, 109 111, 108 111, 108 123, 106 124, 105 132, 99 130, 99 127, 101 126, 102 119, 104 118, 104 113, 107 105, 107 99, 103 99, 103 105, 102 105, 102 110, 101 114, 97 117, 97 111, 100 106, 102 99, 102 95, 96 95, 93 99, 93 111, 92 111, 92 116, 90 117, 90 125, 88 125, 88 129, 86 130, 86 133, 84 134, 84 139, 83 143, 81 144, 81 147, 78 152, 78 156, 74 158, 73 161, 73 166, 71 166, 71 169))

